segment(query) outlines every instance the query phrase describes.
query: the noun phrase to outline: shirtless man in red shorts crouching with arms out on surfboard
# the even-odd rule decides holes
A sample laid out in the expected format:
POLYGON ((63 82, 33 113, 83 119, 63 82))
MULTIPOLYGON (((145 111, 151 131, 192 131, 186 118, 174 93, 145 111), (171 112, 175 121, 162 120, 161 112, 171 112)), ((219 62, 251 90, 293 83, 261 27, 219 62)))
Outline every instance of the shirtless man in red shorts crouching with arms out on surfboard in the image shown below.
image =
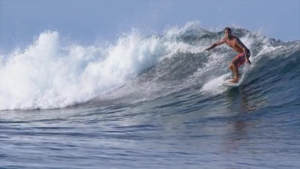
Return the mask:
POLYGON ((239 74, 238 68, 246 61, 249 65, 251 62, 249 57, 251 55, 250 50, 235 36, 231 35, 231 29, 226 27, 224 29, 225 37, 222 38, 219 42, 214 43, 210 47, 206 48, 205 50, 210 50, 215 48, 216 46, 226 43, 230 46, 234 51, 238 52, 239 54, 236 55, 232 62, 229 64, 229 69, 234 73, 234 78, 230 81, 231 83, 238 83, 239 74))

